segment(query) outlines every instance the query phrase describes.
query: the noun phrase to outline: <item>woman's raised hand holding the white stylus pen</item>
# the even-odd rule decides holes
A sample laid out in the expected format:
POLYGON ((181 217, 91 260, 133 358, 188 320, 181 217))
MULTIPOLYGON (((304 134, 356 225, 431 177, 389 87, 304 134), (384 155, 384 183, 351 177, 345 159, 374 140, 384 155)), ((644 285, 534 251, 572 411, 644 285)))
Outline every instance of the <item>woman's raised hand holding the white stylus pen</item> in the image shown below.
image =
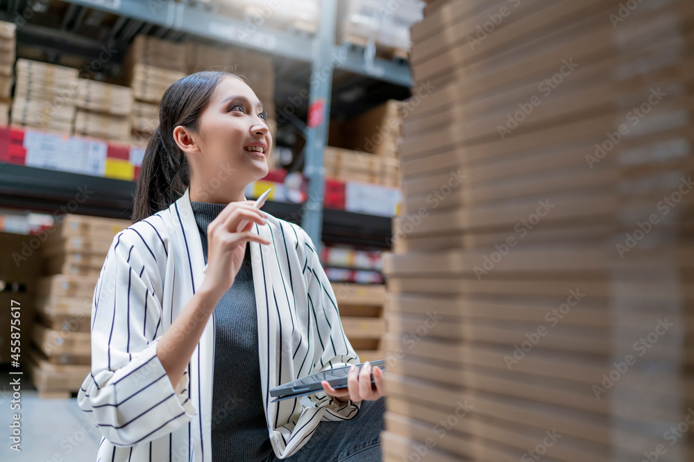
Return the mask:
POLYGON ((271 242, 253 233, 253 224, 266 224, 266 213, 253 207, 255 201, 230 202, 208 225, 208 268, 201 290, 221 296, 229 290, 244 263, 246 242, 271 242), (248 220, 240 232, 239 224, 248 220))

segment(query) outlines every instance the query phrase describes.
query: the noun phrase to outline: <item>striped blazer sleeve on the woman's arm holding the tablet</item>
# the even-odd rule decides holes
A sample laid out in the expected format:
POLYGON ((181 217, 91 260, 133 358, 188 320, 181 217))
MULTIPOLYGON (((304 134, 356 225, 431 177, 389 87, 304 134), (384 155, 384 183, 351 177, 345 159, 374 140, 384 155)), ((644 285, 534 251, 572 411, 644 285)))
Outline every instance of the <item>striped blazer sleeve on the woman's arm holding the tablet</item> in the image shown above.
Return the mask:
MULTIPOLYGON (((359 364, 359 356, 347 339, 342 328, 337 297, 332 285, 325 274, 318 249, 305 232, 304 243, 307 256, 307 277, 309 310, 315 320, 314 341, 320 348, 315 349, 315 357, 311 373, 325 371, 332 368, 359 364)), ((348 420, 353 418, 361 402, 341 403, 329 398, 324 391, 312 396, 316 406, 325 407, 325 414, 321 420, 348 420)))

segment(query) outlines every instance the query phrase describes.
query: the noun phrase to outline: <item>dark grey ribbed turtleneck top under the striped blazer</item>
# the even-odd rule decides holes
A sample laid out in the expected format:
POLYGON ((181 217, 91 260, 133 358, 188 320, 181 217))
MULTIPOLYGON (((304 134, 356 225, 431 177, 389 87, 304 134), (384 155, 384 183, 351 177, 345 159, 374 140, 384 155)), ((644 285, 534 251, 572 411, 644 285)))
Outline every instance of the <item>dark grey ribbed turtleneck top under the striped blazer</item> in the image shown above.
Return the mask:
MULTIPOLYGON (((226 204, 194 202, 195 221, 208 263, 208 224, 226 204)), ((212 460, 264 461, 272 452, 260 391, 257 314, 251 245, 234 284, 221 297, 214 317, 212 460)))

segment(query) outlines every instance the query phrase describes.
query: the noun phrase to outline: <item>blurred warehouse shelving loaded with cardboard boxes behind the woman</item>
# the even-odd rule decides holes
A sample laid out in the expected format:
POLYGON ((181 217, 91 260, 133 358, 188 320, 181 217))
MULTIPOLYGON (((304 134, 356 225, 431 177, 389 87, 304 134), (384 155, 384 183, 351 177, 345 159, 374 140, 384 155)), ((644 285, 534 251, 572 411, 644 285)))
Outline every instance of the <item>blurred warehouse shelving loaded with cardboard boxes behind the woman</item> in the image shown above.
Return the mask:
POLYGON ((246 197, 273 188, 264 210, 319 243, 350 340, 364 360, 381 355, 381 258, 402 197, 399 111, 412 86, 409 27, 422 9, 413 0, 0 0, 0 240, 6 261, 34 268, 8 265, 0 280, 26 296, 24 319, 35 317, 25 335, 40 396, 74 394, 87 373, 90 287, 105 244, 130 222, 158 102, 174 81, 208 69, 245 75, 268 110, 271 170, 246 197))

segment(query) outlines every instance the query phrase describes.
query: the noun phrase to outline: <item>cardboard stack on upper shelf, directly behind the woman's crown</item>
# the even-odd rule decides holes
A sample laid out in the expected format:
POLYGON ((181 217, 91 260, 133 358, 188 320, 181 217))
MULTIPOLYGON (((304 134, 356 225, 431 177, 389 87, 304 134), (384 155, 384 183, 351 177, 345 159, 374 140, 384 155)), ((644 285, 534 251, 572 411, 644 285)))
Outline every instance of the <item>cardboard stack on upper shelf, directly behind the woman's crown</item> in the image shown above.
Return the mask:
POLYGON ((185 77, 188 48, 167 40, 137 35, 125 59, 125 78, 133 89, 133 143, 146 144, 158 125, 156 116, 164 91, 185 77))

